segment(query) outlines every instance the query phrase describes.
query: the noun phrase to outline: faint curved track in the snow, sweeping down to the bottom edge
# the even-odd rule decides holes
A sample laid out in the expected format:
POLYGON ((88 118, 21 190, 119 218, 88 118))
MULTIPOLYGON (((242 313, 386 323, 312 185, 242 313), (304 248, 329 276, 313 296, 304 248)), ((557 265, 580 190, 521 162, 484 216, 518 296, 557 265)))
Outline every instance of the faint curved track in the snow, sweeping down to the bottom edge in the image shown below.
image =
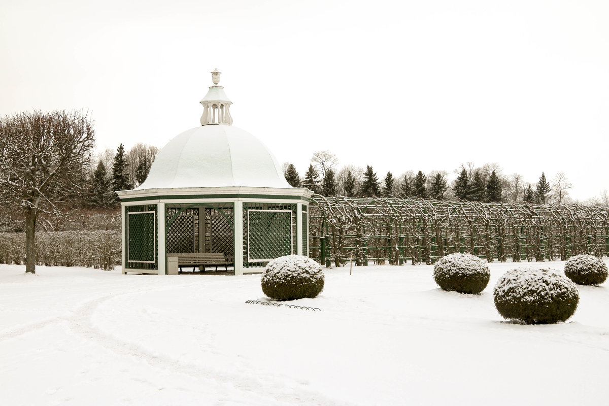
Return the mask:
MULTIPOLYGON (((197 285, 197 284, 189 284, 197 285)), ((180 286, 186 287, 188 285, 180 286)), ((153 368, 164 369, 174 374, 182 374, 194 379, 205 379, 211 385, 220 385, 224 387, 232 387, 234 390, 244 393, 242 397, 251 399, 252 404, 260 405, 286 405, 286 404, 303 404, 303 405, 347 405, 346 402, 331 399, 319 392, 308 388, 306 383, 300 383, 293 379, 289 385, 286 385, 285 376, 273 377, 264 376, 261 378, 248 376, 247 374, 214 369, 202 369, 194 363, 185 363, 180 360, 172 359, 163 355, 154 354, 147 349, 142 348, 134 343, 120 340, 112 335, 106 334, 104 331, 93 326, 92 318, 100 304, 117 296, 129 295, 132 293, 150 292, 152 290, 175 289, 177 286, 162 287, 158 289, 138 289, 132 292, 124 292, 120 294, 108 295, 101 298, 93 299, 84 304, 81 304, 73 313, 72 317, 63 318, 60 321, 67 321, 68 326, 74 334, 85 338, 88 341, 93 341, 102 348, 115 354, 133 357, 136 360, 143 360, 153 368), (252 399, 257 397, 256 401, 252 399)), ((225 397, 225 396, 224 396, 225 397)), ((227 399, 228 404, 231 403, 227 399)))

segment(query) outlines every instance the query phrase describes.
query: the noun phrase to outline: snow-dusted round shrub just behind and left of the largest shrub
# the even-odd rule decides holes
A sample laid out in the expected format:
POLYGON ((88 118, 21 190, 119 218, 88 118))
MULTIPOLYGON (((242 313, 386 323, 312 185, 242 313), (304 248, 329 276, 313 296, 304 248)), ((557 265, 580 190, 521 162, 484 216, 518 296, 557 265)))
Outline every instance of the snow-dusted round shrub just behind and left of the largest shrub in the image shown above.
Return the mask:
POLYGON ((448 254, 434 266, 434 280, 444 290, 459 293, 480 293, 488 285, 488 265, 471 254, 448 254))

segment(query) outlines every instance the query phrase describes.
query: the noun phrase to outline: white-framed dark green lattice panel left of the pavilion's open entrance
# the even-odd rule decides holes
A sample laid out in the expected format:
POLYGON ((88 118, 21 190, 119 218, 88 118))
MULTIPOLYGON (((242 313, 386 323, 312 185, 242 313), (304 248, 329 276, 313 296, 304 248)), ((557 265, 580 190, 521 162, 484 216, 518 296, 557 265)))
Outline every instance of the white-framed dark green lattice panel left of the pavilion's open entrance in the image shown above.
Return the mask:
POLYGON ((128 216, 128 262, 156 261, 155 212, 130 212, 128 216))

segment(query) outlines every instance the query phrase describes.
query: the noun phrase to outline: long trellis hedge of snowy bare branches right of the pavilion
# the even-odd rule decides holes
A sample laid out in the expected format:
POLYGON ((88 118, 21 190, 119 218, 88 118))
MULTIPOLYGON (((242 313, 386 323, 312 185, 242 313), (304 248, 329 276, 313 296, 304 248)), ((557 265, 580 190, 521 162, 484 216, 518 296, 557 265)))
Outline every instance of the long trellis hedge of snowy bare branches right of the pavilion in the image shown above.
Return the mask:
POLYGON ((309 256, 326 266, 425 262, 454 252, 544 261, 609 251, 609 209, 412 198, 325 198, 309 206, 309 256))

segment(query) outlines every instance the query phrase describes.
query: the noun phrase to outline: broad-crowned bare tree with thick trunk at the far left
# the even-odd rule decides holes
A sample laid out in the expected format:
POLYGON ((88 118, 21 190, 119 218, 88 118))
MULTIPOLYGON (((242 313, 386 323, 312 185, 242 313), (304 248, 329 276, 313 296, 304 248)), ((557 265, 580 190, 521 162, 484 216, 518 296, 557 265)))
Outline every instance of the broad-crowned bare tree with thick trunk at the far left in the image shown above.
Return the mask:
POLYGON ((0 202, 26 220, 26 272, 35 273, 38 214, 65 214, 82 191, 95 142, 82 111, 33 111, 0 118, 0 202))

